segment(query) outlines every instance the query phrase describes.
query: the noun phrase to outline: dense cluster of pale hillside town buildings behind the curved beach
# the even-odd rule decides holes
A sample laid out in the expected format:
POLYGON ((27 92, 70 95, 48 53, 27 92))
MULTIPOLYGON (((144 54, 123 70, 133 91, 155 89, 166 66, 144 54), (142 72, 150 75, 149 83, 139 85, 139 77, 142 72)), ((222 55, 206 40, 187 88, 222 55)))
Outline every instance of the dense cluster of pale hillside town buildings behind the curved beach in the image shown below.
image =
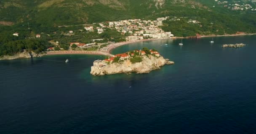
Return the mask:
MULTIPOLYGON (((126 41, 142 40, 148 38, 166 38, 171 37, 171 32, 165 32, 159 26, 162 26, 162 21, 169 17, 157 18, 155 21, 145 21, 141 19, 129 19, 123 21, 108 21, 106 23, 98 23, 99 27, 85 27, 87 31, 97 30, 98 33, 104 32, 105 28, 116 29, 121 34, 127 34, 126 41)), ((96 24, 96 23, 94 23, 96 24)))

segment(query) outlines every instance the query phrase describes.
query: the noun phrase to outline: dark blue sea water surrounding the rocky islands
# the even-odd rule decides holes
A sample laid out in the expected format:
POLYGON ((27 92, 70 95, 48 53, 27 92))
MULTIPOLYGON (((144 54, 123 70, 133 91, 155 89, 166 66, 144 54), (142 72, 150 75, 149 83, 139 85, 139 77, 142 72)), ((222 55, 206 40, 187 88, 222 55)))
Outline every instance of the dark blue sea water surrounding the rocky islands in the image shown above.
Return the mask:
POLYGON ((101 56, 0 61, 0 134, 256 133, 256 36, 209 41, 113 50, 146 46, 175 62, 139 75, 93 77, 90 67, 101 56), (232 43, 247 46, 221 48, 232 43))

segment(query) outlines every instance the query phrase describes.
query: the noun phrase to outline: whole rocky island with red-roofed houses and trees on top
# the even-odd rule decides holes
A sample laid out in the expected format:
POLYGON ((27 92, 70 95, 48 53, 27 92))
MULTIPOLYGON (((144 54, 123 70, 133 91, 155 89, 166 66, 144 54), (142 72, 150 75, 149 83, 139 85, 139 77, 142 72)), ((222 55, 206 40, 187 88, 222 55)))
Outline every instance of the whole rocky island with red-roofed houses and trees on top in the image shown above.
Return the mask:
POLYGON ((91 67, 91 75, 111 75, 117 73, 136 72, 149 73, 160 69, 165 64, 174 64, 164 59, 155 49, 143 48, 123 54, 116 54, 104 60, 96 60, 91 67))

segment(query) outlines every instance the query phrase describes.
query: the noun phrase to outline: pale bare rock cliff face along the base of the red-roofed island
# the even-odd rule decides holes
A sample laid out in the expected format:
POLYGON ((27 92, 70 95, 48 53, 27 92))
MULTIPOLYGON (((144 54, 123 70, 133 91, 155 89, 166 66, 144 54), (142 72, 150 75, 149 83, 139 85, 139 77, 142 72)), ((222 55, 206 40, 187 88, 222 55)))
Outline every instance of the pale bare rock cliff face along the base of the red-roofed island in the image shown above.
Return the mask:
POLYGON ((153 57, 152 55, 143 56, 142 62, 137 62, 132 64, 130 60, 124 60, 123 62, 110 63, 104 67, 91 67, 92 75, 110 75, 117 73, 126 73, 126 72, 136 72, 140 73, 149 73, 152 70, 160 69, 161 66, 165 64, 174 64, 170 62, 169 59, 164 59, 163 57, 153 57))

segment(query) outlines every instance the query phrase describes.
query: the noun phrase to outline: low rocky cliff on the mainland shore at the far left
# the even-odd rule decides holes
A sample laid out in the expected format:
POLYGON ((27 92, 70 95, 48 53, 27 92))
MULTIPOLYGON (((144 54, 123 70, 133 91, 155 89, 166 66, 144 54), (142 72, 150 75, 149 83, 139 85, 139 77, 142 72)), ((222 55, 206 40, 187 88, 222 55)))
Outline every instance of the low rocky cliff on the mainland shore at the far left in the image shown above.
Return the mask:
POLYGON ((22 59, 22 58, 32 58, 32 57, 42 57, 43 54, 36 54, 35 52, 23 52, 14 55, 4 55, 0 57, 0 60, 11 60, 11 59, 22 59))

